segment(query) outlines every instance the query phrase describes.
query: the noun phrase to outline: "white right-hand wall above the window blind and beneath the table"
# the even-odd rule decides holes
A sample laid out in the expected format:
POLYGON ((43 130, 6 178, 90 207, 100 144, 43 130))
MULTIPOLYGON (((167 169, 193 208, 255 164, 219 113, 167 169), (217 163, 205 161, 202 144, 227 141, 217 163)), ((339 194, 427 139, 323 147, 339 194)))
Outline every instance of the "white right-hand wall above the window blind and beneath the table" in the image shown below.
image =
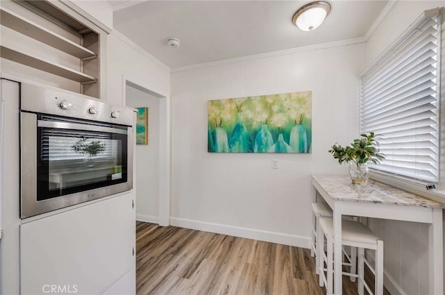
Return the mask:
MULTIPOLYGON (((440 6, 445 6, 445 1, 398 1, 366 43, 366 66, 385 51, 423 10, 440 6)), ((385 270, 398 285, 398 289, 389 289, 389 292, 429 294, 428 226, 382 219, 370 219, 369 226, 385 242, 385 270)))

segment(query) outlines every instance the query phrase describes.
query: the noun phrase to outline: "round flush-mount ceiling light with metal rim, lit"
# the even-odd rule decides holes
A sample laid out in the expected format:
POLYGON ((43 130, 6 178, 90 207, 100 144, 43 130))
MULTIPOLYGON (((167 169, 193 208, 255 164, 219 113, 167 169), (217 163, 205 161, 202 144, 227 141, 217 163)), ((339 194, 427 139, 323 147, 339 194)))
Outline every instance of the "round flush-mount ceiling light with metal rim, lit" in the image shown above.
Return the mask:
POLYGON ((307 3, 295 12, 292 22, 302 31, 312 31, 323 23, 330 11, 331 6, 325 1, 307 3))

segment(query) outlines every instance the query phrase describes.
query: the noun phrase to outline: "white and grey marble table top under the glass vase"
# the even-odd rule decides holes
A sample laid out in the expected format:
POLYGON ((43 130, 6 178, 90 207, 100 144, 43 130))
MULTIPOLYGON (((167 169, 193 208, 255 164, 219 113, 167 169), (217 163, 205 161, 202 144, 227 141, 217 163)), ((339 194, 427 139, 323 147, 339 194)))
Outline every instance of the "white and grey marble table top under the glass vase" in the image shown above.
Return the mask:
POLYGON ((312 179, 323 187, 333 200, 445 208, 444 204, 371 179, 364 186, 351 184, 349 176, 343 175, 314 174, 312 179))

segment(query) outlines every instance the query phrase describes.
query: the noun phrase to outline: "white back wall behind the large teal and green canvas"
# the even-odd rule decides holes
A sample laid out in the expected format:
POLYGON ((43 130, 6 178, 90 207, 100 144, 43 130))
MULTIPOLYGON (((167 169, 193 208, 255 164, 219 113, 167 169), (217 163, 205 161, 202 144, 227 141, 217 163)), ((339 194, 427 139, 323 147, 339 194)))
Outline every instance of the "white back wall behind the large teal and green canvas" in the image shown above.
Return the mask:
POLYGON ((310 175, 358 133, 364 45, 172 73, 171 223, 309 248, 310 175), (312 90, 309 154, 207 153, 207 101, 312 90), (271 169, 271 160, 278 169, 271 169))

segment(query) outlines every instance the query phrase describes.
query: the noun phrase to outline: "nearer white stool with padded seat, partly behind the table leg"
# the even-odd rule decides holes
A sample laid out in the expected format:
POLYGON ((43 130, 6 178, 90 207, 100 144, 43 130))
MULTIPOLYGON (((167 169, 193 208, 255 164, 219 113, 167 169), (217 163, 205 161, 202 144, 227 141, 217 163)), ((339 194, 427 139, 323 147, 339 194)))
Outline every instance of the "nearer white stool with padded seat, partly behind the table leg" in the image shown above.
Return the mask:
MULTIPOLYGON (((317 255, 320 256, 319 273, 319 285, 323 287, 323 283, 326 285, 327 295, 332 295, 332 290, 334 287, 334 225, 332 218, 321 217, 318 220, 320 224, 320 231, 318 231, 318 241, 325 241, 327 239, 327 255, 318 247, 317 255), (324 269, 324 264, 326 263, 326 269, 324 269), (325 275, 326 271, 326 275, 325 275)), ((342 220, 341 221, 341 244, 342 246, 351 246, 358 248, 358 274, 343 272, 343 275, 358 278, 358 294, 364 294, 364 287, 369 292, 369 294, 383 295, 383 241, 379 239, 374 233, 359 223, 358 221, 342 220), (375 250, 375 269, 371 267, 371 264, 364 257, 364 249, 375 250), (374 293, 369 289, 369 285, 366 284, 364 280, 364 264, 369 267, 375 276, 375 289, 374 293)))

